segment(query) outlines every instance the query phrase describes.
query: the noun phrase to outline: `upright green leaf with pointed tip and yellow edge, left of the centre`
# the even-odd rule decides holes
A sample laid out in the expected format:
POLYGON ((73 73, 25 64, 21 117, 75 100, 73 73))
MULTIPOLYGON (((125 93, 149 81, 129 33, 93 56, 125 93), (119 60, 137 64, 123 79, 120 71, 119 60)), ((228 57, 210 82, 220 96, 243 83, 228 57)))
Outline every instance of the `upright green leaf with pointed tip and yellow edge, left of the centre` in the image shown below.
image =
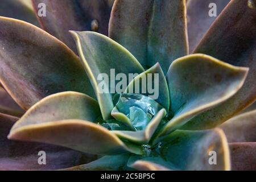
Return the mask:
POLYGON ((102 116, 105 120, 109 119, 114 108, 112 97, 116 93, 115 76, 122 73, 129 84, 129 74, 139 74, 144 69, 127 49, 107 36, 96 32, 71 33, 76 40, 85 70, 92 81, 102 116), (106 85, 105 90, 101 88, 102 83, 106 85))

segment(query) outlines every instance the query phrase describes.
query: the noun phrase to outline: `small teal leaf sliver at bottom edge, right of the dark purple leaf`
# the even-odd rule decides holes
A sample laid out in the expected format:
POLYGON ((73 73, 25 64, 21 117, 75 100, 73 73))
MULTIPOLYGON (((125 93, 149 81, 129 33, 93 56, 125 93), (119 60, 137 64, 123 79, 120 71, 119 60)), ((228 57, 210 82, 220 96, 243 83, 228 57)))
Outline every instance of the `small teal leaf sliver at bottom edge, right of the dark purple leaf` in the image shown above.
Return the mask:
POLYGON ((122 171, 125 169, 129 154, 104 156, 91 163, 68 168, 68 171, 122 171))

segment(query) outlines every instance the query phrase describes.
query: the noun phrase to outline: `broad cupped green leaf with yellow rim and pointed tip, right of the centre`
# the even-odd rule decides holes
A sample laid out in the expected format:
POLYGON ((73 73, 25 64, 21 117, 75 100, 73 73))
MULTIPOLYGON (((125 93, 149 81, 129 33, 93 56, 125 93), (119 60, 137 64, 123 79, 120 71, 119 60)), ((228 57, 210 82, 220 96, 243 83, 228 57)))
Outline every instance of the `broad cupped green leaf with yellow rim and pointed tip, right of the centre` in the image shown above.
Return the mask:
POLYGON ((247 68, 234 67, 202 54, 175 60, 167 74, 174 118, 159 135, 174 131, 196 115, 232 97, 243 85, 247 72, 247 68))

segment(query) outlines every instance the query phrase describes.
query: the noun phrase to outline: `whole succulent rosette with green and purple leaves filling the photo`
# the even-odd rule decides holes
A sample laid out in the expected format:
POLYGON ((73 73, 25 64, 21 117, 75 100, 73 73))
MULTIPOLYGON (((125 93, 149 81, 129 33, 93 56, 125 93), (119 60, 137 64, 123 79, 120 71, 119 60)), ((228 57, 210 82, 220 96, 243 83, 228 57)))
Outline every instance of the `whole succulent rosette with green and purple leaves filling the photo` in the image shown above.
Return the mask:
MULTIPOLYGON (((256 100, 255 0, 222 1, 228 6, 197 46, 209 24, 193 22, 196 5, 221 1, 188 2, 188 34, 185 0, 116 0, 109 29, 112 1, 33 2, 35 11, 46 4, 48 15, 38 18, 53 36, 0 17, 0 81, 26 110, 7 97, 12 109, 0 107, 3 169, 38 169, 39 150, 52 160, 48 169, 229 170, 230 159, 233 169, 256 169, 256 113, 232 118, 256 100), (111 78, 112 69, 138 75, 121 93, 101 93, 98 75, 111 78), (139 80, 155 73, 152 99, 139 80)), ((110 82, 104 89, 119 84, 110 82)))

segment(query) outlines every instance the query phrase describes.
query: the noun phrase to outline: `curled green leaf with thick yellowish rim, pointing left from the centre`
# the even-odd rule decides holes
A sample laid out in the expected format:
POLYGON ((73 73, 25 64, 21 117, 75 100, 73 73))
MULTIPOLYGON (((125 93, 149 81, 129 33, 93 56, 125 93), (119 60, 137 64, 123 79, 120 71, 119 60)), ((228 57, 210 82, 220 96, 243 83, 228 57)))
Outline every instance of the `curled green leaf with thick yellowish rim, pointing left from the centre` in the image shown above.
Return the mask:
POLYGON ((99 116, 97 102, 85 94, 53 94, 24 114, 11 129, 9 138, 56 144, 89 154, 131 151, 109 130, 93 123, 99 116))

